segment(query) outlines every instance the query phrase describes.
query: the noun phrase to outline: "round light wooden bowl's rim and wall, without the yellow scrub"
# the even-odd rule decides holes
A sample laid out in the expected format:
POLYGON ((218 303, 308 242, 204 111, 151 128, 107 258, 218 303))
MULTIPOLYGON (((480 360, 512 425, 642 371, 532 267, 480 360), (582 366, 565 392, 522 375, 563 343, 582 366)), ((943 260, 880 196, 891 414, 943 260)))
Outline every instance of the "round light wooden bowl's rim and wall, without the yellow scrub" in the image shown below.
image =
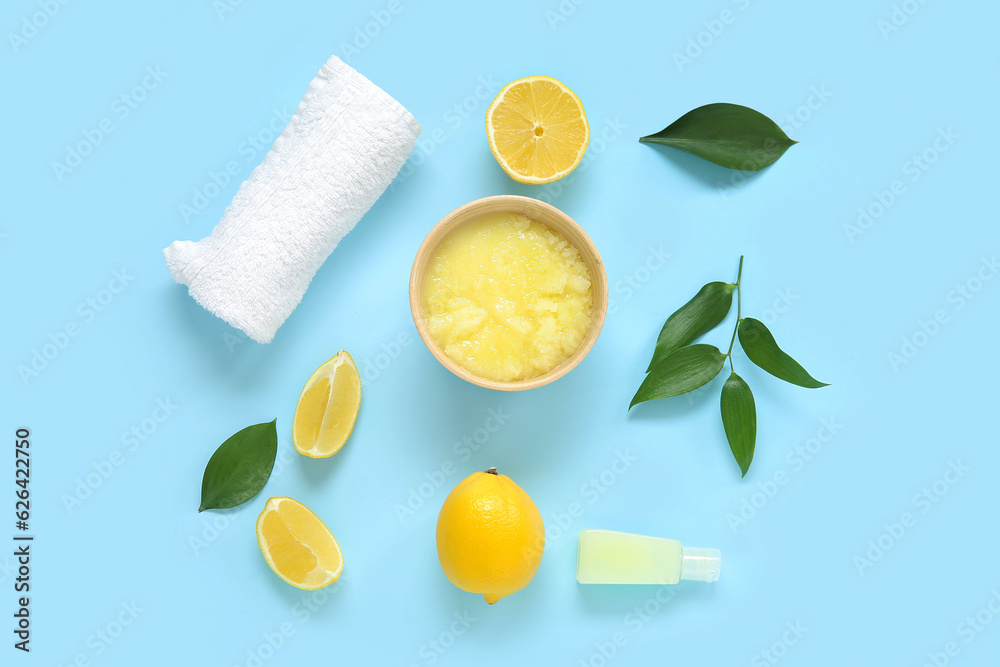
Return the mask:
POLYGON ((427 235, 427 238, 424 239, 424 242, 420 244, 420 249, 417 250, 417 257, 413 260, 413 270, 410 272, 410 312, 413 313, 413 323, 417 325, 417 333, 420 334, 424 345, 441 362, 441 365, 458 377, 480 387, 486 387, 487 389, 498 389, 500 391, 534 389, 569 373, 587 356, 590 348, 594 346, 597 336, 601 333, 601 327, 604 326, 604 317, 608 312, 608 276, 604 270, 604 262, 601 260, 594 242, 590 240, 590 237, 583 231, 583 228, 571 217, 555 206, 537 199, 519 197, 517 195, 497 195, 477 199, 456 208, 435 225, 434 229, 427 235), (570 243, 576 246, 580 252, 580 257, 587 265, 587 270, 590 273, 594 305, 591 311, 590 329, 587 331, 583 342, 580 343, 580 347, 576 349, 576 352, 572 356, 548 373, 528 380, 517 380, 514 382, 490 380, 479 377, 462 368, 448 357, 444 353, 444 350, 434 341, 434 338, 431 337, 430 331, 427 329, 426 318, 424 317, 424 276, 427 273, 427 266, 430 264, 434 251, 437 250, 438 245, 452 230, 488 213, 521 213, 532 220, 536 220, 562 233, 570 243))

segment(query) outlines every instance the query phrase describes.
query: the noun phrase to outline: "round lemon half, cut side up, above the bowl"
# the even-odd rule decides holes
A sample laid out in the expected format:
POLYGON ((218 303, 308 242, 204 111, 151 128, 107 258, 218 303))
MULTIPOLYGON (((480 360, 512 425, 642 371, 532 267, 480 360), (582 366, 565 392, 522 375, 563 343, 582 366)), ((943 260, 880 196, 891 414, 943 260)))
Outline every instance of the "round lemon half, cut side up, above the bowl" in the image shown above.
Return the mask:
POLYGON ((590 142, 583 103, 550 76, 504 86, 486 110, 486 137, 503 170, 519 183, 550 183, 573 171, 590 142))

